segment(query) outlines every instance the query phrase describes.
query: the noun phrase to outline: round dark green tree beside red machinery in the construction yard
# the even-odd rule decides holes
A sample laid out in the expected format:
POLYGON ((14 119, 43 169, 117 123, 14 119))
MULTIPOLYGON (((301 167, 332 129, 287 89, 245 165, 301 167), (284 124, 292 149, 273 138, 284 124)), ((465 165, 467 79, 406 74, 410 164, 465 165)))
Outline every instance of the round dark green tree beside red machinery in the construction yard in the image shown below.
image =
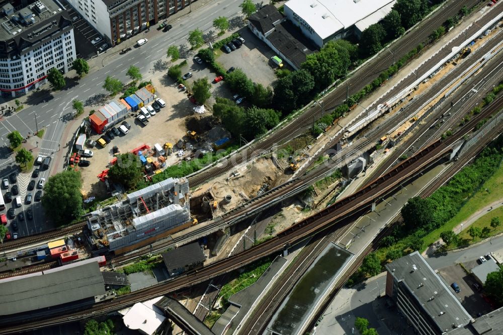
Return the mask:
POLYGON ((108 176, 114 183, 122 184, 128 190, 134 190, 143 178, 140 159, 137 155, 127 152, 117 156, 117 163, 108 171, 108 176))

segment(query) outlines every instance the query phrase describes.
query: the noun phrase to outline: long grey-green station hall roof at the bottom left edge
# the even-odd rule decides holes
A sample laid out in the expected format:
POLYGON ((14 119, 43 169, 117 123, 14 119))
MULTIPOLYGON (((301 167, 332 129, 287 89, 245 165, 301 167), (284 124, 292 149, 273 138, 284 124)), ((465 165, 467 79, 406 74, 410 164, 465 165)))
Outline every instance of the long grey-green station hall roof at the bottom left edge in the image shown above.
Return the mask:
POLYGON ((105 294, 97 262, 65 265, 0 280, 0 315, 10 315, 105 294))

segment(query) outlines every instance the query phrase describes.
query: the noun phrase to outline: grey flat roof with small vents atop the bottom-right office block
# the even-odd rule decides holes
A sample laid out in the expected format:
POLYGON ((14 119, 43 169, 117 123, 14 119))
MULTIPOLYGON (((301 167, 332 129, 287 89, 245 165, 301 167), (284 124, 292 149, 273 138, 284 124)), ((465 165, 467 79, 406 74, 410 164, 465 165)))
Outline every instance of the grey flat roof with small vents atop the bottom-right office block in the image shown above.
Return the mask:
POLYGON ((386 269, 402 289, 411 293, 439 329, 452 330, 453 324, 465 326, 472 319, 453 291, 418 252, 393 261, 386 269))

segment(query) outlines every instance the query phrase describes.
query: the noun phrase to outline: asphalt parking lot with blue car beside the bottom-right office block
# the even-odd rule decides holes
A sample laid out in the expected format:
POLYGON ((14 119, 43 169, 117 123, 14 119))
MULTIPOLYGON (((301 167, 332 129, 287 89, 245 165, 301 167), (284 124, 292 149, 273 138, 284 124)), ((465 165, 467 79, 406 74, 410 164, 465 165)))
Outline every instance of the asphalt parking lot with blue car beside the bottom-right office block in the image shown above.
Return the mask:
MULTIPOLYGON (((478 264, 476 261, 470 261, 463 263, 463 265, 467 269, 471 269, 478 264)), ((466 274, 460 265, 451 265, 439 269, 439 272, 446 285, 471 316, 477 317, 478 313, 485 314, 492 310, 491 306, 484 300, 482 293, 474 289, 473 283, 476 283, 475 279, 471 275, 466 274), (459 293, 454 292, 451 287, 451 284, 454 282, 460 288, 459 293)))

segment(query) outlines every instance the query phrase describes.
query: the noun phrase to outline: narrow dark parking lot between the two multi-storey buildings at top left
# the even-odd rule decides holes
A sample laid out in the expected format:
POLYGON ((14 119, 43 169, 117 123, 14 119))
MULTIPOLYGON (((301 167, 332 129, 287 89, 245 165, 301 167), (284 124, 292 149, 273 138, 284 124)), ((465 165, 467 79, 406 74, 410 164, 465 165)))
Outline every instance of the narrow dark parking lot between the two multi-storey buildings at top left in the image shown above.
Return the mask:
POLYGON ((95 56, 98 48, 102 46, 105 41, 102 40, 93 45, 91 41, 97 37, 101 37, 101 35, 98 34, 98 32, 86 20, 83 20, 80 14, 75 12, 68 3, 63 1, 62 4, 68 10, 70 18, 76 18, 75 20, 72 20, 72 22, 74 27, 73 35, 75 38, 77 57, 89 59, 95 56))

